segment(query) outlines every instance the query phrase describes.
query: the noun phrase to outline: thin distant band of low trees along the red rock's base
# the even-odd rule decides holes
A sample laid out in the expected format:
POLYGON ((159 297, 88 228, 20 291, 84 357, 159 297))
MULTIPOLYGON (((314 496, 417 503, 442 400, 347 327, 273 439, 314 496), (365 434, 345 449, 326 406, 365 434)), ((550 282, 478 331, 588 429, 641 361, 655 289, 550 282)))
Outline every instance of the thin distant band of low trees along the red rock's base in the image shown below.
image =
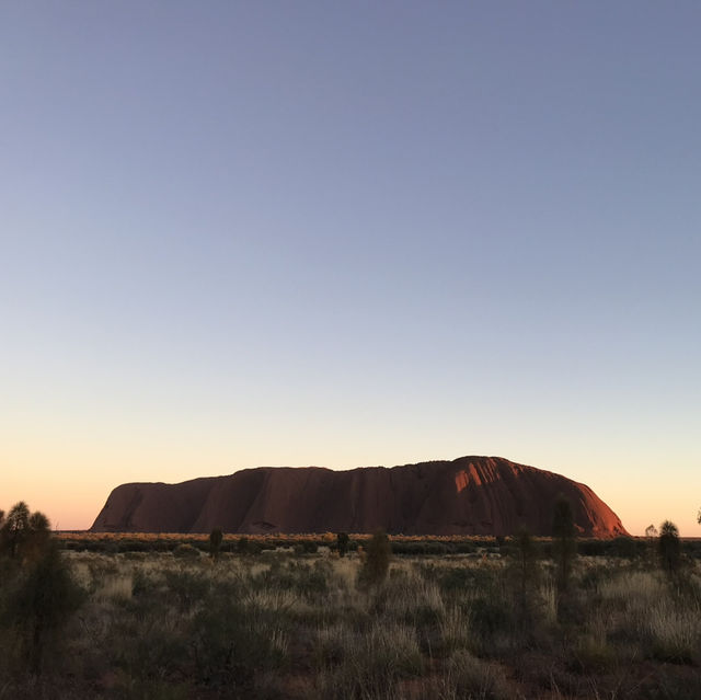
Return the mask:
MULTIPOLYGON (((364 547, 370 535, 350 535, 348 551, 357 551, 364 547)), ((417 537, 391 536, 392 553, 397 555, 435 555, 451 554, 508 555, 514 549, 512 537, 417 537)), ((133 532, 58 532, 56 540, 65 550, 90 551, 103 553, 120 552, 173 552, 180 546, 187 544, 202 552, 210 548, 208 535, 157 535, 133 532)), ((535 538, 543 556, 551 555, 551 539, 535 538)), ((683 554, 701 559, 701 539, 682 539, 683 554)), ((577 539, 577 552, 584 556, 617 556, 635 559, 645 556, 652 547, 648 538, 617 537, 614 539, 577 539)), ((264 551, 289 550, 295 554, 313 554, 320 548, 331 551, 337 549, 336 535, 223 535, 219 551, 232 554, 254 555, 264 551)), ((323 550, 322 550, 323 551, 323 550)))

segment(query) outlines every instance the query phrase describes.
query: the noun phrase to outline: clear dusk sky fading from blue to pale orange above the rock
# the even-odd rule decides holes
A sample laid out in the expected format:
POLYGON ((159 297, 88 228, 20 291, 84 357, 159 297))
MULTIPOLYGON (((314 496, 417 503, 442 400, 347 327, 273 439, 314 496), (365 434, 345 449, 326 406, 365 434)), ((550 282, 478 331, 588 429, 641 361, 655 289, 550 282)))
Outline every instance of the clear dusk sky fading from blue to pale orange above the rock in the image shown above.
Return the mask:
POLYGON ((701 536, 699 26, 0 3, 0 508, 491 455, 701 536))

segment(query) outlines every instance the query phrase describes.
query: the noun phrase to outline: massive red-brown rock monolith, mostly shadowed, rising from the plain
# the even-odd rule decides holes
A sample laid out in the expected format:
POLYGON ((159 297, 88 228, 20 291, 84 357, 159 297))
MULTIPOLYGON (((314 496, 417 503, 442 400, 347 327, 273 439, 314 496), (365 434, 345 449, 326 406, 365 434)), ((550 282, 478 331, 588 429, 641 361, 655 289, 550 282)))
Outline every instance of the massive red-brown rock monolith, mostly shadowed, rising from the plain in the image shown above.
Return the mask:
POLYGON ((260 467, 180 484, 117 486, 95 532, 371 532, 550 535, 563 494, 584 537, 627 535, 588 487, 499 457, 462 457, 387 469, 260 467))

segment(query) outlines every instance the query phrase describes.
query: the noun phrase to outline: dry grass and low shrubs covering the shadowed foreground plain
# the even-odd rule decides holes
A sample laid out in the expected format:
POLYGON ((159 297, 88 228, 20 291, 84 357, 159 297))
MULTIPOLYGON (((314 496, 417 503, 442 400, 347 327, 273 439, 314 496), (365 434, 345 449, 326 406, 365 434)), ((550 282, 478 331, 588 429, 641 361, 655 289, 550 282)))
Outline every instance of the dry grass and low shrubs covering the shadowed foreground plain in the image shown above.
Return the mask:
POLYGON ((693 556, 579 554, 563 587, 548 542, 394 553, 383 581, 361 551, 227 542, 64 549, 79 600, 36 665, 0 589, 0 700, 701 698, 693 556))

